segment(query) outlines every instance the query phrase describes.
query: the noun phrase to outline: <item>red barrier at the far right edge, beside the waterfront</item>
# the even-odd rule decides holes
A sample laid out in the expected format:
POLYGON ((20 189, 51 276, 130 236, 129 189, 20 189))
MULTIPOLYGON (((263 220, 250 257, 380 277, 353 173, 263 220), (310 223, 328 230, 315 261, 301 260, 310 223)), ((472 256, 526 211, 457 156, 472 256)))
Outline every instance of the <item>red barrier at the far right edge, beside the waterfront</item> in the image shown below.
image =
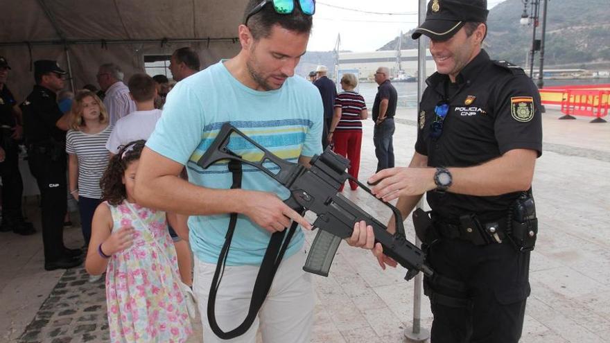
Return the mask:
POLYGON ((606 123, 602 116, 608 115, 610 91, 588 89, 566 89, 566 98, 561 100, 559 119, 575 119, 574 116, 595 116, 591 123, 606 123))

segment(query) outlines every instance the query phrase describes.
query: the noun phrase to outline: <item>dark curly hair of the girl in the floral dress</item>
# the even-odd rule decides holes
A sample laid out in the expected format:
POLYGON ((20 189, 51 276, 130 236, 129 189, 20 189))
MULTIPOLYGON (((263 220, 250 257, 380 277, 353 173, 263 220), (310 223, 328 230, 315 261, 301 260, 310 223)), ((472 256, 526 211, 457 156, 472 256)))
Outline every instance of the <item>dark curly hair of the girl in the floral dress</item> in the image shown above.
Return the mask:
POLYGON ((110 159, 100 180, 103 201, 116 206, 125 200, 127 191, 125 191, 125 184, 123 184, 123 175, 132 161, 140 159, 144 143, 146 141, 143 139, 127 143, 121 146, 119 153, 110 159))

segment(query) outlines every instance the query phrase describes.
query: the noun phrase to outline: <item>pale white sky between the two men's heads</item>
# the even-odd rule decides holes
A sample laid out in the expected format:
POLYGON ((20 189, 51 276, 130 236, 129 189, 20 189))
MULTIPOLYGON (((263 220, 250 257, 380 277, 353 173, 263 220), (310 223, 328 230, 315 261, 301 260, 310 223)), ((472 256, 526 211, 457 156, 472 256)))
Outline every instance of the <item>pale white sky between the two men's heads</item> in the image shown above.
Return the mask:
MULTIPOLYGON (((504 0, 487 0, 492 8, 504 0)), ((375 51, 417 26, 418 0, 320 0, 315 3, 308 51, 332 51, 341 35, 340 49, 375 51)))

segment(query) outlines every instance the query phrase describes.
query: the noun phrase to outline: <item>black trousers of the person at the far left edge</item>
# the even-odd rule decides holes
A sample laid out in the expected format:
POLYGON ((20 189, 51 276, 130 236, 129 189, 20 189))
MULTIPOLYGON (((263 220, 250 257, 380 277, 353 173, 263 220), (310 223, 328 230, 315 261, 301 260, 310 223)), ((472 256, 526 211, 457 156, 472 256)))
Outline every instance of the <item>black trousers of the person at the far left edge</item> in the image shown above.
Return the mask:
POLYGON ((23 216, 21 212, 21 197, 24 193, 24 182, 19 173, 19 146, 10 138, 2 141, 1 147, 6 152, 6 158, 0 163, 2 177, 2 216, 23 216))

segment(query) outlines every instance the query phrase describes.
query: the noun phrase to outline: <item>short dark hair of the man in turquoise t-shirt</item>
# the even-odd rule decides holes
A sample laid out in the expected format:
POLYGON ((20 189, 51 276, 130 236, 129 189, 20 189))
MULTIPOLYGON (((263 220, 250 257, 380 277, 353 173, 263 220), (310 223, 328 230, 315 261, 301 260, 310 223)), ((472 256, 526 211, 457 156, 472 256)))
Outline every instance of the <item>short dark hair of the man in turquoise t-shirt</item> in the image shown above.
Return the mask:
MULTIPOLYGON (((261 3, 261 0, 248 1, 247 6, 245 6, 245 11, 243 12, 243 23, 245 23, 245 19, 252 8, 258 6, 259 3, 261 3)), ((268 3, 261 11, 252 15, 246 24, 250 29, 250 33, 252 33, 252 37, 258 40, 269 37, 271 28, 275 24, 278 24, 282 28, 286 28, 286 30, 297 33, 310 33, 312 17, 312 15, 304 14, 300 6, 295 6, 295 9, 290 15, 281 15, 275 12, 272 3, 268 3)))

